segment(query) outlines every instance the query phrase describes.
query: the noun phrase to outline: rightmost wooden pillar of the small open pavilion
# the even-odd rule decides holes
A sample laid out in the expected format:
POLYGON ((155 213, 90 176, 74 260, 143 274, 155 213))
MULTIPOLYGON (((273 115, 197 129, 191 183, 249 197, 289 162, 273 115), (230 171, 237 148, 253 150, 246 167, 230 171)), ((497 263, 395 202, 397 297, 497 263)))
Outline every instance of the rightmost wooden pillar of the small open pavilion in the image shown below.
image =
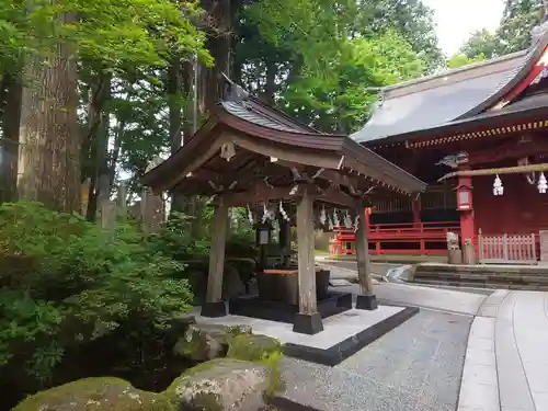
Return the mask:
MULTIPOLYGON (((363 209, 364 205, 359 203, 357 213, 361 213, 363 209)), ((373 292, 372 263, 366 225, 367 221, 365 218, 359 218, 356 231, 357 278, 359 282, 359 295, 356 298, 356 308, 376 310, 378 305, 373 292)))

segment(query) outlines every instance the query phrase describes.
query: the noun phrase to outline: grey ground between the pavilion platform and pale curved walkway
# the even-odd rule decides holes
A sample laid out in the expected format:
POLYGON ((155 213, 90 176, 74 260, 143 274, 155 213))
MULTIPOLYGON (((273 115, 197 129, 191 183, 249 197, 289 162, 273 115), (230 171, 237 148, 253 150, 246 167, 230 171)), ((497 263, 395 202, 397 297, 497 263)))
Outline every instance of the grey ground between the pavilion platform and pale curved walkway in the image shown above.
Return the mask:
POLYGON ((284 358, 282 397, 322 411, 454 411, 471 320, 422 310, 335 367, 284 358))

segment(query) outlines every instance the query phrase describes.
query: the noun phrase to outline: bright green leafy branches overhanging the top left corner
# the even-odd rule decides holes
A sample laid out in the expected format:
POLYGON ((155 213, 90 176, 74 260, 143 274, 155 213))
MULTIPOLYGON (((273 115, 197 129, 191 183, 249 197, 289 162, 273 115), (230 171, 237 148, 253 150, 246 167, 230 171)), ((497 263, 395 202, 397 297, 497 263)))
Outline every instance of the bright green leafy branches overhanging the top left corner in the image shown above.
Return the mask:
POLYGON ((205 37, 191 20, 202 11, 192 1, 83 0, 10 2, 0 13, 0 41, 13 57, 21 52, 47 53, 59 42, 81 58, 111 71, 162 66, 172 53, 198 53, 204 61, 205 37))

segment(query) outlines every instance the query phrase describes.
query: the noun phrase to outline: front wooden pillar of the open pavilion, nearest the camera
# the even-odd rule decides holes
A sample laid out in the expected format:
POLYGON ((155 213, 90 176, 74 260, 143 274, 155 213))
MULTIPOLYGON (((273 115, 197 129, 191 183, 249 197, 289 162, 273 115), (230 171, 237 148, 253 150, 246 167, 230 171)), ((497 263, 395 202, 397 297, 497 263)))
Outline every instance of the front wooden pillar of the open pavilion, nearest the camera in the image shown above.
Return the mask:
POLYGON ((323 331, 316 295, 316 263, 313 250, 313 198, 305 189, 297 205, 297 246, 299 249, 299 312, 293 331, 316 334, 323 331))

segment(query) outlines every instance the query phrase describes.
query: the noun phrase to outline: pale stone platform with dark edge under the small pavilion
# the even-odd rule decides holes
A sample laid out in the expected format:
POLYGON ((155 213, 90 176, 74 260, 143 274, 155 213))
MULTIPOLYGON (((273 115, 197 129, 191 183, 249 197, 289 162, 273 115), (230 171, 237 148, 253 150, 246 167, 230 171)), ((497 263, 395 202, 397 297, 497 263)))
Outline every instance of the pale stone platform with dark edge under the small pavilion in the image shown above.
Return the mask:
POLYGON ((350 309, 324 319, 323 331, 315 335, 294 332, 287 322, 235 315, 206 318, 199 316, 199 308, 193 315, 198 323, 249 326, 254 333, 279 340, 287 356, 334 366, 418 312, 419 308, 392 306, 375 311, 350 309))

